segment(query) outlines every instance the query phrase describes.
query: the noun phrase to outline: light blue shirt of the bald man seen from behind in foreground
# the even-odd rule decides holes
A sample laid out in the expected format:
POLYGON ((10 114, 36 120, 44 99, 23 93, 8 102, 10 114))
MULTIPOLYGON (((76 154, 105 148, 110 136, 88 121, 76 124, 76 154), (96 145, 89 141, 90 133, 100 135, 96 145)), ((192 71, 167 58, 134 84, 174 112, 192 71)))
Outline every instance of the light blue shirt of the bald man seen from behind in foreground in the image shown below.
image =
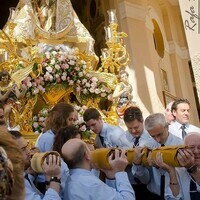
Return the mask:
POLYGON ((102 182, 91 171, 72 169, 65 185, 64 199, 66 200, 135 200, 127 174, 117 172, 115 180, 102 182))

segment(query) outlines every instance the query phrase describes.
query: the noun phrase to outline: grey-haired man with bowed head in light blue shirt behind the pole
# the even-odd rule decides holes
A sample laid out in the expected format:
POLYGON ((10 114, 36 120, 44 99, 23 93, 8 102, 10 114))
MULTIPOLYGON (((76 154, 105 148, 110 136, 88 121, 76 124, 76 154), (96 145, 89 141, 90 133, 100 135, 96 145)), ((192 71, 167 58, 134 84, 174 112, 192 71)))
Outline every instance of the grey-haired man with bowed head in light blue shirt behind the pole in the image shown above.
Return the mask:
MULTIPOLYGON (((145 129, 149 132, 152 139, 148 140, 146 146, 150 149, 156 149, 161 146, 180 145, 182 140, 175 135, 172 135, 168 131, 168 124, 165 120, 165 116, 161 113, 155 113, 149 115, 145 119, 145 129)), ((147 185, 148 190, 151 192, 150 200, 163 200, 164 193, 161 194, 161 177, 165 180, 169 180, 169 174, 165 170, 151 167, 150 182, 147 185), (164 176, 162 176, 164 175, 164 176)), ((163 180, 164 180, 163 179, 163 180)), ((165 182, 167 182, 165 181, 165 182)), ((169 182, 169 181, 168 181, 169 182)), ((162 190, 165 187, 162 188, 162 190)))

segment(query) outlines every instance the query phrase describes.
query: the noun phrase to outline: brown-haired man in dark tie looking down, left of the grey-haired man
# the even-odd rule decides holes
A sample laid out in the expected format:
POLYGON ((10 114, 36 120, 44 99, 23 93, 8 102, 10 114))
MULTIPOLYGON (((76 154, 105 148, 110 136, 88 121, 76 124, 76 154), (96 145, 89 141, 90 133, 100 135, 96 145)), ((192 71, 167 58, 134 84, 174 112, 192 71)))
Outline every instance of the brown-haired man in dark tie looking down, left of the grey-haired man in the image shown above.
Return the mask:
MULTIPOLYGON (((124 122, 127 127, 126 139, 130 148, 135 149, 135 153, 142 155, 144 144, 150 139, 149 133, 144 129, 144 119, 142 111, 135 106, 127 108, 124 112, 124 122), (140 148, 140 149, 139 149, 140 148)), ((129 181, 135 191, 136 199, 143 200, 148 198, 148 190, 146 184, 149 181, 148 170, 141 165, 129 165, 126 168, 129 181)))

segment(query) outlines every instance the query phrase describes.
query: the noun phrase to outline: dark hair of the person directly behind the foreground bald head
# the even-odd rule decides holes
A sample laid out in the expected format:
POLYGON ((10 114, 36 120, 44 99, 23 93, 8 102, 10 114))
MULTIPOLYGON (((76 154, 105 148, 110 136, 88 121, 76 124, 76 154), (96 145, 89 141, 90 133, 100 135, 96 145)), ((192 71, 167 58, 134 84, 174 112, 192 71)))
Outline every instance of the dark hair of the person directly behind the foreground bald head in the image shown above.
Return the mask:
POLYGON ((65 142, 67 142, 69 139, 75 138, 78 134, 80 134, 82 137, 81 132, 75 126, 66 126, 61 128, 55 136, 53 150, 62 155, 61 149, 65 142))

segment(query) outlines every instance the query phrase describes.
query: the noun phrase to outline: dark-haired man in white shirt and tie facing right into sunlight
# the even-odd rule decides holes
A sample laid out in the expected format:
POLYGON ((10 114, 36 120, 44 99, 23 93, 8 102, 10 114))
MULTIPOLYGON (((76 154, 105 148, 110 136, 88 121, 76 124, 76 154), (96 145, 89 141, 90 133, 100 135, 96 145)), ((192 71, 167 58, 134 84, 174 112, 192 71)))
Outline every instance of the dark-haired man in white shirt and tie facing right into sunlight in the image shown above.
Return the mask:
POLYGON ((189 124, 190 102, 187 99, 174 101, 171 109, 175 121, 169 126, 170 133, 184 139, 185 135, 190 132, 200 132, 199 127, 189 124))

